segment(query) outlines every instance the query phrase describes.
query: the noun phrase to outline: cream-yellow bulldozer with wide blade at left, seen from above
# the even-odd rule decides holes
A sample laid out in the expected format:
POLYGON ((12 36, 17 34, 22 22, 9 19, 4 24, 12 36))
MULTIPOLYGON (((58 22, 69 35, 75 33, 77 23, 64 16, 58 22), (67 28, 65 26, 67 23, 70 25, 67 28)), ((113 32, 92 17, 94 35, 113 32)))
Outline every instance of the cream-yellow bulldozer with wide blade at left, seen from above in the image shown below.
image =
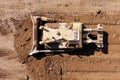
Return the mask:
POLYGON ((33 45, 29 56, 37 53, 65 52, 82 49, 88 44, 103 45, 103 25, 84 27, 81 22, 60 21, 44 16, 31 16, 33 23, 33 45))

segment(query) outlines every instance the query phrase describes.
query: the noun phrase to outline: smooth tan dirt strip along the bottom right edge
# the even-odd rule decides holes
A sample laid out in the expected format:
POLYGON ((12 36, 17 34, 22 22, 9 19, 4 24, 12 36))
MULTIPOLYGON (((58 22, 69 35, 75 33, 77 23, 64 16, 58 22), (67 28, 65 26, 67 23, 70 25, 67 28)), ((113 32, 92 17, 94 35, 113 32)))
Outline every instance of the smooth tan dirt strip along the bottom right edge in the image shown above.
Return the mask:
POLYGON ((94 73, 94 72, 78 72, 66 73, 62 78, 63 80, 119 80, 120 73, 94 73))

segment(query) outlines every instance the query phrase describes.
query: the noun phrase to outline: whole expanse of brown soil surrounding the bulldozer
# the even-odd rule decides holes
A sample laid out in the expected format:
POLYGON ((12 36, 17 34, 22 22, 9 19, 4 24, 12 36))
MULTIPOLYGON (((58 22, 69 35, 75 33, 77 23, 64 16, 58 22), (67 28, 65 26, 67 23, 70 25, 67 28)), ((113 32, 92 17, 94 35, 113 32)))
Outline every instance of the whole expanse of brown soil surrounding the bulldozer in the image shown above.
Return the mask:
MULTIPOLYGON (((7 0, 1 2, 2 5, 5 3, 7 0)), ((0 8, 0 79, 119 80, 119 5, 119 0, 12 0, 7 7, 0 8), (29 57, 23 64, 32 47, 29 14, 59 19, 60 22, 82 22, 85 27, 92 28, 102 23, 104 48, 97 51, 94 45, 88 45, 70 53, 41 53, 29 57)))

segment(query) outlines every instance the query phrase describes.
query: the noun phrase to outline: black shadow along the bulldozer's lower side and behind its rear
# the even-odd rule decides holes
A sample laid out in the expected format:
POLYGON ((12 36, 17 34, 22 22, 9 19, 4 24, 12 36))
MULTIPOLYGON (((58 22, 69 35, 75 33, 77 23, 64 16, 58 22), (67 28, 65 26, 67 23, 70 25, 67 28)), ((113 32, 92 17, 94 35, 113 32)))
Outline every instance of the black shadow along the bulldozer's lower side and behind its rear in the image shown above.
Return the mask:
POLYGON ((95 51, 101 51, 103 54, 108 54, 108 33, 103 31, 103 43, 104 43, 104 47, 101 49, 98 49, 97 46, 93 43, 88 44, 88 45, 83 45, 84 47, 82 49, 75 49, 75 50, 69 50, 69 51, 65 51, 63 53, 61 52, 55 52, 55 53, 37 53, 34 54, 33 57, 35 57, 36 59, 40 60, 41 58, 45 57, 45 56, 49 56, 49 55, 60 55, 62 56, 62 54, 69 54, 69 55, 77 55, 77 56, 90 56, 90 55, 94 55, 95 51), (47 54, 47 55, 46 55, 47 54))

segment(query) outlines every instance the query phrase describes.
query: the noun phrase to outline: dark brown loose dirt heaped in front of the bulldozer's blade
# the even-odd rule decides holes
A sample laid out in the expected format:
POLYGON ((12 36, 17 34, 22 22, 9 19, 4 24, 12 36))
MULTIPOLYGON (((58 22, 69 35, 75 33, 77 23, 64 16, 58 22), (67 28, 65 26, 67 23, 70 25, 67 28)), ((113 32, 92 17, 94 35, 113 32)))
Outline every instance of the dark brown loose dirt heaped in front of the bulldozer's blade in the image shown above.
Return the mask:
POLYGON ((30 17, 24 20, 14 20, 16 27, 15 48, 20 61, 24 60, 32 47, 32 22, 30 17))

